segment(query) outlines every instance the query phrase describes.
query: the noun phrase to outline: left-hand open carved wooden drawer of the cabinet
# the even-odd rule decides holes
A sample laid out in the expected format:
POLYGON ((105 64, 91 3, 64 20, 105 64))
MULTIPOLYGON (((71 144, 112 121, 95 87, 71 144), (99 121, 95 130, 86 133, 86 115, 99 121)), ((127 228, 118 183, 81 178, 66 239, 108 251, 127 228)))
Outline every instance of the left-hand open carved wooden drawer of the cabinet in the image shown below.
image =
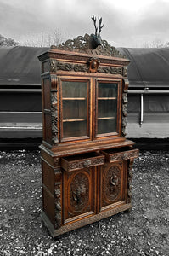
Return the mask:
POLYGON ((103 154, 92 152, 90 154, 77 154, 61 158, 61 166, 65 171, 75 171, 87 167, 104 165, 103 154))

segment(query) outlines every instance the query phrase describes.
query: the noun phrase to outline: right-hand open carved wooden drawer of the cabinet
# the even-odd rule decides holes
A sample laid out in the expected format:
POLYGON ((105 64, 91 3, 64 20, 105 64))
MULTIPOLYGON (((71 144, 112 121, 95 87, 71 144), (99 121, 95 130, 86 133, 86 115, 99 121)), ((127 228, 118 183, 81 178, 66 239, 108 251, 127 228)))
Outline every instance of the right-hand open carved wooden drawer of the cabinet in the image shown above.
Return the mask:
POLYGON ((101 151, 101 154, 105 155, 105 160, 112 163, 117 160, 128 160, 131 158, 138 158, 139 150, 132 147, 124 148, 111 148, 101 151))

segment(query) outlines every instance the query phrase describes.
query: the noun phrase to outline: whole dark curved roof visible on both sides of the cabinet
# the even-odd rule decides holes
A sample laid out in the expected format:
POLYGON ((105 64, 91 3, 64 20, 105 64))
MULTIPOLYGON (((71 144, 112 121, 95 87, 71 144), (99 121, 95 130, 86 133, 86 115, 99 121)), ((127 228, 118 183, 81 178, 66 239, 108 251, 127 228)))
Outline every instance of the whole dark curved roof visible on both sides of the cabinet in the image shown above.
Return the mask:
MULTIPOLYGON (((48 48, 0 47, 0 84, 41 84, 40 61, 48 48)), ((169 86, 169 48, 118 48, 132 62, 130 87, 169 86)))

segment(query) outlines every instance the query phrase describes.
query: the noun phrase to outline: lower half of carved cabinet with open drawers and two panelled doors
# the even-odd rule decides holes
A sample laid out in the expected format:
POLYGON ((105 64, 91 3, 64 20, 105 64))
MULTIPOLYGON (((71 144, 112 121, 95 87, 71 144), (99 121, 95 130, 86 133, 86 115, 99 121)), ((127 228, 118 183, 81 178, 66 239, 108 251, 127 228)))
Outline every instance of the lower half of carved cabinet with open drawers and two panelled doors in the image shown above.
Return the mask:
POLYGON ((125 147, 61 158, 44 151, 41 155, 42 220, 52 236, 132 207, 132 163, 138 149, 125 147))

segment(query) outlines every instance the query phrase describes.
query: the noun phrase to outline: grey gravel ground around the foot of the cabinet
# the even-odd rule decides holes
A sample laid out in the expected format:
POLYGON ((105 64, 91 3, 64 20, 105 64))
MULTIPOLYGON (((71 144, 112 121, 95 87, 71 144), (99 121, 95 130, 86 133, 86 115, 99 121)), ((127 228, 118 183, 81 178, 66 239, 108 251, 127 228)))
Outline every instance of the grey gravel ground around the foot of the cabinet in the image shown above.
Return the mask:
POLYGON ((169 153, 135 160, 132 211, 52 239, 42 224, 39 151, 0 152, 0 255, 169 255, 169 153))

